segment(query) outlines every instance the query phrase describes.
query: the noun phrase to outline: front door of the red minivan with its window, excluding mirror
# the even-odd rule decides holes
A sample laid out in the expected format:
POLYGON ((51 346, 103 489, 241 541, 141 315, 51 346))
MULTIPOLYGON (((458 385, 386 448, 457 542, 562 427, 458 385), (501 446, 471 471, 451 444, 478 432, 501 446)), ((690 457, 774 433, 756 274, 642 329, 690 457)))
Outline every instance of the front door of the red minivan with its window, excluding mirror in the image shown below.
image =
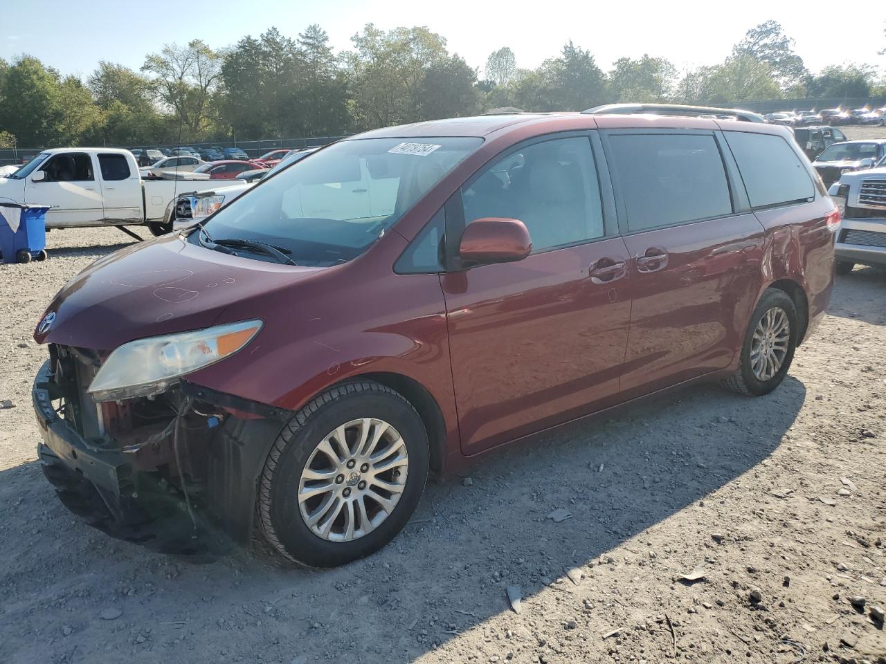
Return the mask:
POLYGON ((459 223, 519 219, 532 236, 524 260, 441 279, 462 452, 611 403, 630 318, 628 256, 603 222, 589 137, 509 151, 456 197, 459 223))

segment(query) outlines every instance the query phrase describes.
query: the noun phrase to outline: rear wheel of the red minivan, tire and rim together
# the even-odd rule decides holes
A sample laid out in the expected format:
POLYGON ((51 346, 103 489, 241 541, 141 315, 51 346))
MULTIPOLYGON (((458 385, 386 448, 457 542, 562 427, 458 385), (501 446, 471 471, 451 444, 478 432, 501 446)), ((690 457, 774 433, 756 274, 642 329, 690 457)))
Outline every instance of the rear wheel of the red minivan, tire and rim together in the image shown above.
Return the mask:
POLYGON ((724 385, 754 397, 781 385, 797 349, 797 330, 794 301, 783 290, 766 290, 750 317, 738 369, 724 385))

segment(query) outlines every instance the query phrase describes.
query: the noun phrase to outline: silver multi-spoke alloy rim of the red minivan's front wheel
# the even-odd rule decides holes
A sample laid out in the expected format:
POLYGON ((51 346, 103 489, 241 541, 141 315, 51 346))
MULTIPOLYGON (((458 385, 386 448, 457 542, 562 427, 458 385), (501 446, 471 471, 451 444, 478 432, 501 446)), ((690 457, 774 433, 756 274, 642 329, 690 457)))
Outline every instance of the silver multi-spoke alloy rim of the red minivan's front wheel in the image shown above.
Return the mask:
POLYGON ((387 519, 406 486, 406 442, 388 422, 342 424, 311 452, 299 479, 299 512, 311 532, 350 542, 387 519))

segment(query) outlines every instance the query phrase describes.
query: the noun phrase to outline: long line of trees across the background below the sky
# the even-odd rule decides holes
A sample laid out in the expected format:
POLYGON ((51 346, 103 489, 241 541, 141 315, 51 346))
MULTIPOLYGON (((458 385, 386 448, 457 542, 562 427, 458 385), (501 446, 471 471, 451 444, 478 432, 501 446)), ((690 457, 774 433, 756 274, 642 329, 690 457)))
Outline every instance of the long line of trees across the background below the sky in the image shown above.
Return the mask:
POLYGON ((214 50, 169 44, 141 70, 102 61, 83 80, 37 58, 0 58, 0 147, 152 145, 345 135, 492 109, 580 111, 610 102, 734 104, 886 94, 873 66, 811 73, 781 26, 751 28, 723 62, 679 70, 667 58, 618 58, 606 72, 569 41, 536 69, 505 46, 482 71, 426 27, 372 24, 336 53, 319 26, 271 27, 214 50))

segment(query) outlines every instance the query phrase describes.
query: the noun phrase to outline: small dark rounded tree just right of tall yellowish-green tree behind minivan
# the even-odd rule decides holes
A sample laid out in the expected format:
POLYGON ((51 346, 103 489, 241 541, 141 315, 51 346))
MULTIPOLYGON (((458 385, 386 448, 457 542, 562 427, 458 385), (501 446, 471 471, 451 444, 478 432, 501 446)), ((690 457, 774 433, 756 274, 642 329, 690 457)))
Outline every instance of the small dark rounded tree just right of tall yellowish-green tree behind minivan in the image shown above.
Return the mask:
POLYGON ((480 92, 474 86, 476 82, 477 70, 457 55, 429 66, 418 86, 421 119, 438 120, 478 112, 480 92))

